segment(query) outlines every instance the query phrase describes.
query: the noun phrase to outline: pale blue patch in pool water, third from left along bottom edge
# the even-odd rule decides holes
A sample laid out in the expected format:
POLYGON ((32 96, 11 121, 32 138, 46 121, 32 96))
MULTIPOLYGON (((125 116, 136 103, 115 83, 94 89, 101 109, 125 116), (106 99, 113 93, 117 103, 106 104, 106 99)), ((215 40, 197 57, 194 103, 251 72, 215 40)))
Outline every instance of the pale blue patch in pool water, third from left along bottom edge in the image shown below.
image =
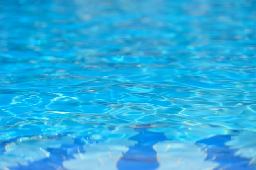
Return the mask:
POLYGON ((193 143, 163 141, 155 144, 159 168, 157 170, 213 170, 218 163, 204 161, 205 152, 193 143))

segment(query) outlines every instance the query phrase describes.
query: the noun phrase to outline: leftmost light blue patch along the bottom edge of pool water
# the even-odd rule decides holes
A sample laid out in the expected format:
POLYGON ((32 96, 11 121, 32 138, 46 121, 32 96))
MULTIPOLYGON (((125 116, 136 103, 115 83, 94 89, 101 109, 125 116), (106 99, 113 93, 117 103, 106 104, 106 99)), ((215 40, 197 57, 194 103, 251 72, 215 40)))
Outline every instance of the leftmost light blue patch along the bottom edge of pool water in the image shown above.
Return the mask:
MULTIPOLYGON (((4 145, 5 151, 0 155, 0 170, 7 167, 27 166, 29 163, 49 158, 46 148, 61 148, 63 144, 72 144, 74 139, 65 136, 58 140, 40 137, 22 137, 15 142, 4 145)), ((57 165, 55 165, 57 166, 57 165)))

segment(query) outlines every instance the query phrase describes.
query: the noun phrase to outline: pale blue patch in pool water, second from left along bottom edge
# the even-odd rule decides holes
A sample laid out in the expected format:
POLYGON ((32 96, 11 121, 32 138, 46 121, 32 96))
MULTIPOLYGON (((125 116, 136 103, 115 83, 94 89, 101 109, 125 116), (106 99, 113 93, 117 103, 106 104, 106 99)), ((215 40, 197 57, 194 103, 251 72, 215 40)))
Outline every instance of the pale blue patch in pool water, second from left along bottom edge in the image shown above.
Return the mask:
POLYGON ((128 146, 136 142, 127 139, 110 139, 93 145, 85 145, 86 153, 74 154, 76 159, 63 161, 67 170, 117 170, 117 162, 128 146))

